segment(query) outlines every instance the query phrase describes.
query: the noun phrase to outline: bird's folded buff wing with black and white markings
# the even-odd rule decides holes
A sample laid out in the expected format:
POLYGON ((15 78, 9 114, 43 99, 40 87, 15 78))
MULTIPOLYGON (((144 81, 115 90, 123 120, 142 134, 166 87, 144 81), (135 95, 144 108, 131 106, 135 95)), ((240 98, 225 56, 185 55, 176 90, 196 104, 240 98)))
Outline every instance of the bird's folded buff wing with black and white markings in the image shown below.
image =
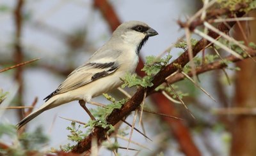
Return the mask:
POLYGON ((70 73, 67 79, 61 83, 58 89, 52 92, 52 94, 49 96, 45 97, 45 99, 48 100, 56 94, 77 89, 83 85, 86 85, 87 83, 107 76, 115 72, 116 69, 118 69, 118 66, 119 65, 115 61, 108 63, 88 62, 70 73))

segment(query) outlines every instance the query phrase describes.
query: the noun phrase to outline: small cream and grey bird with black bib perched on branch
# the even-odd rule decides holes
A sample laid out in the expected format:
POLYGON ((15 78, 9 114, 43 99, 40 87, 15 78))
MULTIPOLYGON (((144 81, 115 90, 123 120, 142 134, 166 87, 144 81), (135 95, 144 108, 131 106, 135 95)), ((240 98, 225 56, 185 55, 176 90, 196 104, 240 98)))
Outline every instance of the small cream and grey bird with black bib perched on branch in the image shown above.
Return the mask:
MULTIPOLYGON (((45 97, 45 103, 17 124, 17 129, 51 108, 79 101, 92 102, 100 96, 122 85, 120 78, 125 73, 134 73, 143 45, 157 31, 145 22, 128 21, 120 24, 111 38, 82 65, 70 73, 58 89, 45 97)), ((81 104, 81 103, 80 103, 81 104)))

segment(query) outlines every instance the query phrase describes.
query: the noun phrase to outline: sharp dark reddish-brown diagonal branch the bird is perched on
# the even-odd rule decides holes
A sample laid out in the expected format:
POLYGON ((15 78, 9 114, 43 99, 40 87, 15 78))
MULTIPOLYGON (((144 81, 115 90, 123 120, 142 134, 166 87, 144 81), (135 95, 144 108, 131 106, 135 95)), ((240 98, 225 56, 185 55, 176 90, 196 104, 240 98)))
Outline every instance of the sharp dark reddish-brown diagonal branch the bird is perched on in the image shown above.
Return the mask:
MULTIPOLYGON (((236 13, 237 17, 242 17, 244 15, 243 12, 236 13)), ((221 23, 218 25, 218 29, 222 32, 228 32, 230 30, 230 27, 234 26, 236 22, 227 22, 227 23, 221 23)), ((216 34, 216 32, 209 31, 208 35, 211 36, 211 38, 218 38, 219 35, 216 34)), ((211 44, 209 41, 207 41, 206 45, 211 44)), ((197 53, 199 53, 202 49, 205 47, 205 41, 204 39, 201 39, 196 43, 196 45, 193 47, 193 55, 195 56, 197 53)), ((131 111, 136 110, 138 106, 140 106, 140 103, 143 101, 143 95, 144 92, 147 92, 147 95, 151 92, 154 92, 154 89, 156 89, 157 86, 161 85, 161 83, 165 82, 165 78, 169 76, 170 74, 174 73, 179 69, 177 67, 177 64, 179 64, 180 67, 184 67, 189 62, 188 57, 188 50, 186 52, 182 53, 180 57, 178 57, 176 60, 174 60, 172 63, 170 63, 168 66, 163 67, 159 73, 154 76, 154 80, 152 83, 154 84, 152 87, 148 88, 142 88, 140 87, 137 92, 132 96, 132 98, 127 101, 127 103, 120 108, 120 110, 116 109, 114 110, 109 117, 107 118, 107 122, 109 124, 115 125, 117 122, 119 122, 122 118, 126 117, 131 113, 131 111)), ((102 127, 95 127, 93 131, 82 141, 80 141, 72 150, 74 153, 83 153, 84 151, 90 150, 92 138, 97 138, 98 144, 100 144, 103 140, 106 139, 105 133, 108 131, 108 129, 103 129, 102 127)), ((88 151, 88 154, 90 151, 88 151)))

